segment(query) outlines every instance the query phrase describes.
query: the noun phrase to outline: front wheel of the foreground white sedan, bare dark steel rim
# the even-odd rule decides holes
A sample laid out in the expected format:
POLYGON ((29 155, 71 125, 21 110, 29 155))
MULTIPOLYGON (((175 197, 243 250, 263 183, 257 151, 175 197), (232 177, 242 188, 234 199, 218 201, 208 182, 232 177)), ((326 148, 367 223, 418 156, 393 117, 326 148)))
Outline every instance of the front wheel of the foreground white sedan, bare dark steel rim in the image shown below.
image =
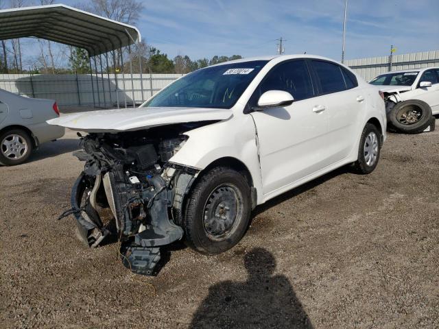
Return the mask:
POLYGON ((241 173, 217 167, 195 182, 183 219, 186 243, 202 254, 219 254, 246 232, 251 212, 250 186, 241 173))

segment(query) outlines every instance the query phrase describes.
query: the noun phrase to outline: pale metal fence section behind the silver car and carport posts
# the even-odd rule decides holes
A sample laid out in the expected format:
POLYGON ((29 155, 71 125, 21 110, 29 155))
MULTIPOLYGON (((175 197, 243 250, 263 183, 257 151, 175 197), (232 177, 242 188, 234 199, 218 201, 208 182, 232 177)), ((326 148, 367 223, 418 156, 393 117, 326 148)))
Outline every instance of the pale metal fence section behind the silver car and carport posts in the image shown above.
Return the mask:
POLYGON ((154 95, 181 74, 99 74, 93 75, 28 75, 0 74, 0 88, 33 98, 55 99, 60 106, 93 106, 93 89, 96 106, 125 106, 125 101, 140 103, 154 95), (125 84, 125 86, 124 86, 125 84), (117 91, 116 91, 117 90, 117 91), (125 92, 123 90, 126 90, 125 92), (143 93, 142 93, 143 90, 143 93), (142 95, 143 94, 143 95, 142 95))

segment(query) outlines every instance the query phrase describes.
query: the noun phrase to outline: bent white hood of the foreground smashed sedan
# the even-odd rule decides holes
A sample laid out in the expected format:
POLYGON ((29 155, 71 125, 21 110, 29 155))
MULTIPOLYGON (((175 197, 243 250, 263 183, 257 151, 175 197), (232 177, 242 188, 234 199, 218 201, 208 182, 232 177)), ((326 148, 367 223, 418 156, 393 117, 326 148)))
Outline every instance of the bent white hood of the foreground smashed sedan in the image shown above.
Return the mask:
POLYGON ((47 123, 82 132, 120 132, 173 123, 226 120, 232 115, 231 110, 215 108, 123 108, 65 114, 47 123))

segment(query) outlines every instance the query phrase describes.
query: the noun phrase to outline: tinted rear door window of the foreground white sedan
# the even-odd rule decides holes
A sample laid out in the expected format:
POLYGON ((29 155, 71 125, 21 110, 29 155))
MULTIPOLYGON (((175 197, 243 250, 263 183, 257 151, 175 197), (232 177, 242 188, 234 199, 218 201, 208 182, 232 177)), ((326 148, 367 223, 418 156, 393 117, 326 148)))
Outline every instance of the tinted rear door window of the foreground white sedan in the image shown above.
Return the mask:
POLYGON ((320 60, 311 61, 317 78, 320 81, 320 93, 337 93, 337 91, 346 90, 344 77, 340 66, 320 60))

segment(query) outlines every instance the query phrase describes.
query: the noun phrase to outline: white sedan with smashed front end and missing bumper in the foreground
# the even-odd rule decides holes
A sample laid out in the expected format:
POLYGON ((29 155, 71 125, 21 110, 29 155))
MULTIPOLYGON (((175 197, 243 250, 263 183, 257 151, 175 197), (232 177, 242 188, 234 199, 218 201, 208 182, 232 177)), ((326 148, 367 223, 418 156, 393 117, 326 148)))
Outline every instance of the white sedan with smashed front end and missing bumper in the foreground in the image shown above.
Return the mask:
POLYGON ((374 86, 308 55, 209 66, 140 108, 49 123, 88 133, 64 215, 96 247, 110 234, 110 209, 124 265, 146 275, 163 245, 184 238, 203 254, 225 252, 258 204, 344 164, 372 172, 386 129, 374 86))

